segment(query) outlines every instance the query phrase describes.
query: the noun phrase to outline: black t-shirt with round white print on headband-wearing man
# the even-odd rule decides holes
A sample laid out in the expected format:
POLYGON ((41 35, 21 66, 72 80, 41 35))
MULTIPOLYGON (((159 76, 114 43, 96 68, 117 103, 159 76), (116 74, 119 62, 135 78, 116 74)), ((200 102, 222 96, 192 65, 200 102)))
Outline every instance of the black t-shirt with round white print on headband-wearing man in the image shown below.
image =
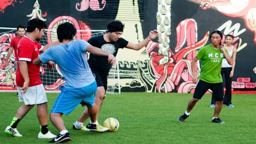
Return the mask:
MULTIPOLYGON (((124 48, 128 44, 127 40, 124 38, 120 38, 116 42, 106 42, 103 35, 93 36, 88 40, 88 43, 95 47, 99 47, 114 56, 116 56, 119 48, 124 48)), ((95 56, 90 54, 88 63, 92 70, 96 70, 99 74, 108 76, 109 69, 111 68, 111 64, 108 63, 108 56, 95 56)))

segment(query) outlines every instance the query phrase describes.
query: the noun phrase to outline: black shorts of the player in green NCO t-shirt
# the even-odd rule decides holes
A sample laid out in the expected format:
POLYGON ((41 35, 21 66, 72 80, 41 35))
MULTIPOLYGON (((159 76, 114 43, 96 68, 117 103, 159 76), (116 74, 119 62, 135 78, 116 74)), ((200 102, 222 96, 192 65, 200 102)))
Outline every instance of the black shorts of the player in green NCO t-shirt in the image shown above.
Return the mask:
POLYGON ((223 101, 223 84, 222 83, 206 83, 205 81, 199 80, 196 84, 195 93, 193 98, 201 99, 207 90, 212 90, 216 101, 223 101))

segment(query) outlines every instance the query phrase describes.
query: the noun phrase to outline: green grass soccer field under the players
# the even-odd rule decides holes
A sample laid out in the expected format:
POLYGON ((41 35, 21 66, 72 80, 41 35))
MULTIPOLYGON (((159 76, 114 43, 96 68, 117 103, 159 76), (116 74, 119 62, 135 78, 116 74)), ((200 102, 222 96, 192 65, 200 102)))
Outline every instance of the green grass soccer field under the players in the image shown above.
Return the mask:
MULTIPOLYGON (((4 134, 17 108, 16 93, 1 92, 0 97, 0 143, 48 143, 50 140, 38 139, 38 119, 36 106, 20 121, 17 129, 22 138, 4 134)), ((47 93, 48 110, 58 93, 47 93)), ((212 124, 213 108, 209 108, 211 95, 205 94, 184 123, 177 118, 184 113, 192 94, 184 93, 134 93, 123 92, 120 95, 107 94, 100 109, 99 123, 106 118, 115 117, 120 122, 116 132, 88 132, 72 129, 83 109, 78 106, 68 116, 63 116, 65 125, 72 136, 68 143, 255 143, 256 95, 233 94, 235 108, 223 107, 220 118, 225 124, 212 124)), ((88 124, 88 120, 85 122, 88 124)), ((58 134, 49 121, 49 130, 58 134)))

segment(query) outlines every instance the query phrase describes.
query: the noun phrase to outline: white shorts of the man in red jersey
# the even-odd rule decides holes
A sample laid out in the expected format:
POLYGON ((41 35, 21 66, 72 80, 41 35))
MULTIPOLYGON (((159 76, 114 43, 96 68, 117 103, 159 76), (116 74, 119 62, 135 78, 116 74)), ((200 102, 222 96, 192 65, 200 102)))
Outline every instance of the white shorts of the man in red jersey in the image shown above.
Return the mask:
POLYGON ((43 104, 47 102, 46 93, 43 84, 37 86, 30 86, 25 94, 22 94, 23 90, 17 86, 19 94, 19 102, 24 102, 25 105, 43 104))

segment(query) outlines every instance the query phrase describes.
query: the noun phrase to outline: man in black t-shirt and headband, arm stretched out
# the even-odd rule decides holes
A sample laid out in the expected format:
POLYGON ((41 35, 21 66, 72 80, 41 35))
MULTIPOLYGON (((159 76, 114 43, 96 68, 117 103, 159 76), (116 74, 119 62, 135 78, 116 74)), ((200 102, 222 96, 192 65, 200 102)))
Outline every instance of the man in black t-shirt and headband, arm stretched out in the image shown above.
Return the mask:
MULTIPOLYGON (((114 20, 110 22, 107 26, 107 31, 104 35, 93 36, 88 40, 88 42, 100 49, 104 49, 104 51, 109 52, 116 56, 119 48, 129 48, 139 51, 143 47, 145 47, 150 40, 154 40, 158 33, 156 30, 150 31, 147 38, 142 40, 138 44, 134 44, 132 42, 128 42, 124 38, 121 38, 123 34, 124 24, 119 20, 114 20)), ((95 93, 95 104, 100 109, 102 102, 105 97, 105 93, 108 86, 108 73, 111 68, 111 65, 108 63, 108 57, 106 56, 96 56, 90 54, 90 58, 88 60, 90 68, 92 69, 93 74, 95 74, 95 79, 97 81, 97 92, 95 93)), ((99 111, 98 111, 99 114, 99 111)), ((73 129, 81 129, 83 131, 88 131, 86 127, 84 127, 83 122, 89 117, 88 109, 84 109, 81 117, 74 122, 73 129)))

